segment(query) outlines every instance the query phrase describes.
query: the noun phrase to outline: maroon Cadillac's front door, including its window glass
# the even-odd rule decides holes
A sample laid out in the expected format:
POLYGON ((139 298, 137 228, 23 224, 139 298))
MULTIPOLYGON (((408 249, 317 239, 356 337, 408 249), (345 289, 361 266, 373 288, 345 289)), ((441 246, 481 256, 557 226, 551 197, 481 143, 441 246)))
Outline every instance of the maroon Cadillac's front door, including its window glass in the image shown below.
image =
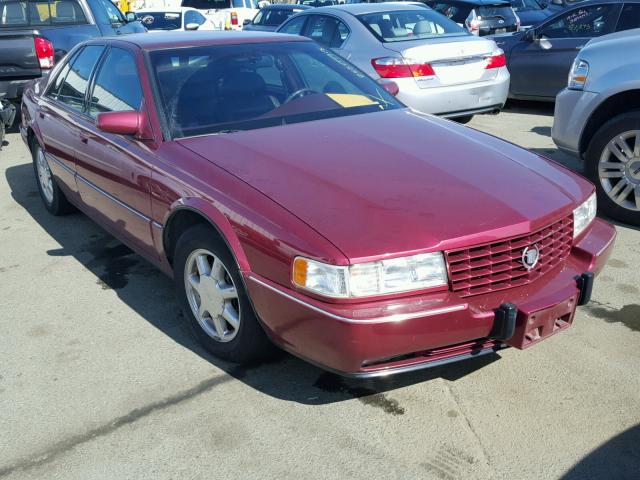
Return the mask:
POLYGON ((101 112, 139 110, 142 88, 133 52, 111 47, 97 67, 89 96, 87 121, 81 125, 82 148, 76 152, 78 190, 98 220, 141 253, 153 255, 149 149, 132 136, 95 127, 101 112))

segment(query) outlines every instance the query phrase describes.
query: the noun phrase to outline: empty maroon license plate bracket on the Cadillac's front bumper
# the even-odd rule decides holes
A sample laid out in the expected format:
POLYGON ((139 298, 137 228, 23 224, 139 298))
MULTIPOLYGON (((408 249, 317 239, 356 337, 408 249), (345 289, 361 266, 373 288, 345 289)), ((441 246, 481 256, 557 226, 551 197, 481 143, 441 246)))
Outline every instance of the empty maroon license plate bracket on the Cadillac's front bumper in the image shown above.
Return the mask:
POLYGON ((573 323, 578 294, 545 308, 519 308, 513 337, 506 343, 525 349, 565 330, 573 323))

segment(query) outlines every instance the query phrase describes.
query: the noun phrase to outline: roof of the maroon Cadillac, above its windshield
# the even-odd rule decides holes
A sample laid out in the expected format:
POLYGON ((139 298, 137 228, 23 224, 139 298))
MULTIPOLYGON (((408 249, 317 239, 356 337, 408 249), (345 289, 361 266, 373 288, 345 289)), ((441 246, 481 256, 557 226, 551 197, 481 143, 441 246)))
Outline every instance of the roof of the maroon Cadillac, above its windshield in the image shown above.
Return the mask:
POLYGON ((88 41, 91 43, 126 42, 143 50, 165 50, 181 47, 204 47, 208 45, 243 45, 248 43, 278 43, 278 42, 312 42, 306 37, 272 32, 233 32, 233 31, 202 31, 202 32, 163 32, 133 33, 118 37, 97 37, 88 41))

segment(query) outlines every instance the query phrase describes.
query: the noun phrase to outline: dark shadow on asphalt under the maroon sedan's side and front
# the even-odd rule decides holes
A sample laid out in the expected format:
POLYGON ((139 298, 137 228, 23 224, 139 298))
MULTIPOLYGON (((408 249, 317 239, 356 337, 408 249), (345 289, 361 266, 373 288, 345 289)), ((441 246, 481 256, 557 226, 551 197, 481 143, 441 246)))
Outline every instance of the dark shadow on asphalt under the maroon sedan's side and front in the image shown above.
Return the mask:
POLYGON ((419 372, 368 380, 345 379, 284 352, 269 362, 248 366, 221 361, 204 350, 191 335, 168 277, 85 215, 54 217, 49 214, 40 200, 31 164, 9 167, 6 179, 13 199, 60 245, 47 251, 48 255, 74 258, 95 275, 96 288, 113 290, 121 301, 175 342, 266 395, 308 405, 357 398, 398 415, 404 410, 395 400, 387 398, 387 392, 436 378, 455 381, 500 358, 494 353, 419 372))

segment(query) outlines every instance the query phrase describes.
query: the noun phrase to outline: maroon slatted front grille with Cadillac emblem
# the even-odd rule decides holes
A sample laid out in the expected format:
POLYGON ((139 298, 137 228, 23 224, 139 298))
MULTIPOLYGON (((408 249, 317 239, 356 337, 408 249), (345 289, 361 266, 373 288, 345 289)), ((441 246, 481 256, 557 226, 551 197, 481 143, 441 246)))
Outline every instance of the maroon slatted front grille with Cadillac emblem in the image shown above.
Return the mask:
POLYGON ((445 252, 451 289, 463 297, 519 287, 559 265, 571 251, 573 215, 528 235, 445 252), (537 245, 540 259, 527 270, 525 248, 537 245))

